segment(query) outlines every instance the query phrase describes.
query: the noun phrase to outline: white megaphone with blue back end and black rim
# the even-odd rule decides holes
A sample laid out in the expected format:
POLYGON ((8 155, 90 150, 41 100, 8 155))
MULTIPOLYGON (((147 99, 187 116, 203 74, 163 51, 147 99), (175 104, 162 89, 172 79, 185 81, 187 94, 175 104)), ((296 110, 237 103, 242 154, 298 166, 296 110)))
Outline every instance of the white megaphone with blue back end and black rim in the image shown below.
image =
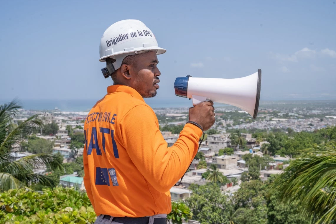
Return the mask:
POLYGON ((261 69, 252 75, 237 79, 195 78, 175 79, 175 95, 193 99, 193 105, 211 100, 237 106, 253 119, 257 117, 261 86, 261 69))

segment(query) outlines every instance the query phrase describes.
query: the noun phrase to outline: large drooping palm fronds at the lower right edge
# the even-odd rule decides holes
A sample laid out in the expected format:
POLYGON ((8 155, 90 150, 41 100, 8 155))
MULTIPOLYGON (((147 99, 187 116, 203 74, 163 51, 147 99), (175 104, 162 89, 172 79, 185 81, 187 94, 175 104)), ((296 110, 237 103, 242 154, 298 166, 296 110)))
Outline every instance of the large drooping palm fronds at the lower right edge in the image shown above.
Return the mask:
POLYGON ((273 187, 286 201, 298 200, 313 223, 336 220, 336 142, 306 149, 278 176, 273 187))

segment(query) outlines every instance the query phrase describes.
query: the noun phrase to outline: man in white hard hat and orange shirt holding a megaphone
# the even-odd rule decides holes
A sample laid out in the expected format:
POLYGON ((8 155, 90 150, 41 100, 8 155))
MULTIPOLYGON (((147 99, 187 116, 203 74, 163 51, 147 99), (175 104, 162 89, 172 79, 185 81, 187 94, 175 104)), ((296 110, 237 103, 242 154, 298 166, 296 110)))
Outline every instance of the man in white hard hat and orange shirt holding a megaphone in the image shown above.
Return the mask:
POLYGON ((205 130, 214 124, 213 103, 189 109, 176 143, 167 147, 153 109, 161 75, 152 31, 139 20, 110 26, 100 42, 108 94, 91 109, 84 124, 84 185, 98 218, 95 223, 166 223, 169 189, 198 151, 205 130))

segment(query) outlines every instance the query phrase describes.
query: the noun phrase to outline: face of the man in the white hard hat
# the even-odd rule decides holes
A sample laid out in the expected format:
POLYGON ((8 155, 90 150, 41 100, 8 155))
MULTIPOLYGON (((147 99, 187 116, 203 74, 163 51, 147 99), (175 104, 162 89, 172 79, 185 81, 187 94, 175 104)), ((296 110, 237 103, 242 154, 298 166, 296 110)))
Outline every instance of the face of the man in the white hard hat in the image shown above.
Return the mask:
POLYGON ((159 89, 157 83, 160 82, 161 75, 157 64, 159 63, 156 51, 142 53, 134 63, 134 75, 131 80, 131 87, 135 89, 143 98, 150 98, 156 95, 159 89))

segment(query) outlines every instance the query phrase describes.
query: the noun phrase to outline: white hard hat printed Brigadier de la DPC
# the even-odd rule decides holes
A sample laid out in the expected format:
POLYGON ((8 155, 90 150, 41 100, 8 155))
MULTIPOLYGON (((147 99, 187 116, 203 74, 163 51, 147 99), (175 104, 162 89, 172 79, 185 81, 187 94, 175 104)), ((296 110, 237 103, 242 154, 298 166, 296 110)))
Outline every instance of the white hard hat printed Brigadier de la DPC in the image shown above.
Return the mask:
POLYGON ((152 31, 141 21, 126 19, 112 24, 103 34, 99 45, 99 61, 110 57, 116 61, 113 69, 120 68, 122 60, 132 54, 156 51, 163 54, 166 49, 158 46, 152 31))

